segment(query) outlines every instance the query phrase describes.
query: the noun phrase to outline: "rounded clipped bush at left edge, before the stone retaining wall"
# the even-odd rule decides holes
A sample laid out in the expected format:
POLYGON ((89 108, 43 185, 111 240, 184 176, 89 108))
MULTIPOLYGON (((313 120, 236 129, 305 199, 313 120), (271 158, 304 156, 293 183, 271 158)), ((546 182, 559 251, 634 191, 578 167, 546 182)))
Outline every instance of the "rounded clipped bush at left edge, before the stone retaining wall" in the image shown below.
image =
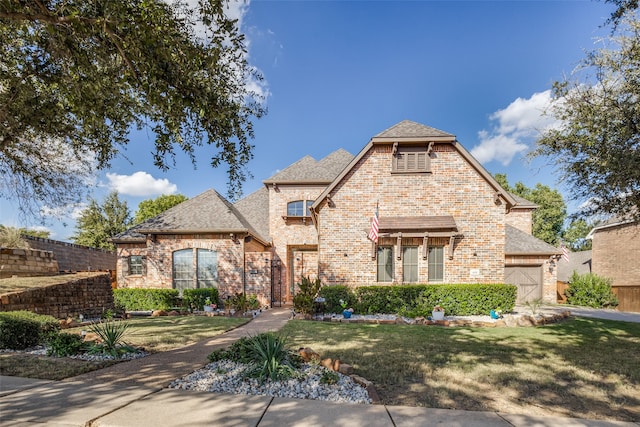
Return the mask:
POLYGON ((53 316, 30 311, 0 313, 0 348, 24 350, 45 344, 60 330, 60 322, 53 316))

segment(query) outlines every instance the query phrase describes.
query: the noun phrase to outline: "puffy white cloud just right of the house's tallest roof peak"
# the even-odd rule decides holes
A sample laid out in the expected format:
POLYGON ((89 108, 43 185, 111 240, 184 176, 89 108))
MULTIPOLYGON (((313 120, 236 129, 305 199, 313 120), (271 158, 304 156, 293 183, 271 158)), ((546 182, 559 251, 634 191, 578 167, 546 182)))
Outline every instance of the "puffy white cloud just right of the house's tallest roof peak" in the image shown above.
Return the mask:
POLYGON ((489 117, 493 128, 478 132, 480 144, 471 149, 471 154, 481 163, 495 160, 507 166, 515 156, 527 151, 540 131, 557 125, 553 116, 545 114, 550 104, 551 91, 547 90, 528 99, 518 98, 496 111, 489 117))

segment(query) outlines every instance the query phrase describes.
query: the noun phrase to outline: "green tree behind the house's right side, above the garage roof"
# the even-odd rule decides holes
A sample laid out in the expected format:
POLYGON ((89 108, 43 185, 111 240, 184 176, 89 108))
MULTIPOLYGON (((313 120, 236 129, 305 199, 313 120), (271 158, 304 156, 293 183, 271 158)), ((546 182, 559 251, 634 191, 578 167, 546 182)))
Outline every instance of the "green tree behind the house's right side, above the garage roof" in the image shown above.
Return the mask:
POLYGON ((512 187, 505 174, 496 174, 495 178, 505 190, 538 205, 538 209, 532 215, 532 234, 550 245, 557 246, 567 217, 567 205, 562 194, 540 183, 534 188, 529 188, 522 182, 517 182, 512 187))

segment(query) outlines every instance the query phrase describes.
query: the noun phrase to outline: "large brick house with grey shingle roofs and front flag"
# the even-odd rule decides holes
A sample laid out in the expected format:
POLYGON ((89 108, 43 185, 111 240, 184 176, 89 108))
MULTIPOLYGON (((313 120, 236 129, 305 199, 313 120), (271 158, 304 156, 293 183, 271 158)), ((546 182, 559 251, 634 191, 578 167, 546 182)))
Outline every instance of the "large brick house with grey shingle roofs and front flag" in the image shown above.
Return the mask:
POLYGON ((506 192, 454 135, 403 121, 355 156, 306 156, 263 183, 235 204, 209 190, 116 236, 118 285, 217 286, 278 305, 305 276, 348 286, 507 281, 520 302, 555 301, 560 252, 531 235, 536 206, 506 192))

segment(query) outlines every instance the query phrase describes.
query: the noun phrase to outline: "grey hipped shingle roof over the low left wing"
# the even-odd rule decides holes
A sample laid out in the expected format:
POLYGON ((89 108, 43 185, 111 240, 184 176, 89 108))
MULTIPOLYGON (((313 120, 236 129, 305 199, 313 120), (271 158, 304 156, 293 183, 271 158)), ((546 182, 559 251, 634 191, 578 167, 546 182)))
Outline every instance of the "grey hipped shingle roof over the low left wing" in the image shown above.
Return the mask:
POLYGON ((144 234, 247 231, 262 237, 240 211, 215 190, 207 190, 114 237, 114 241, 144 238, 144 234))

